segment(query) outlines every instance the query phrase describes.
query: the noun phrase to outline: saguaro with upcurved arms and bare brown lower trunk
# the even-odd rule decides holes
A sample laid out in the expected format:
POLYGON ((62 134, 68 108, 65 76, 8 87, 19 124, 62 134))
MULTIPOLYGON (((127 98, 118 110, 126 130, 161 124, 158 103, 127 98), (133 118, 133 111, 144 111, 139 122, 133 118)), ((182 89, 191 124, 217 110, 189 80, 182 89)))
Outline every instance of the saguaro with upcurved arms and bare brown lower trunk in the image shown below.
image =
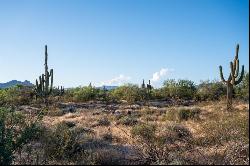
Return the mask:
POLYGON ((236 55, 234 57, 234 61, 230 62, 231 73, 227 80, 224 79, 222 66, 219 66, 220 69, 220 77, 223 83, 227 85, 227 110, 232 110, 232 99, 233 99, 233 86, 239 84, 244 76, 244 65, 242 65, 241 74, 239 76, 239 44, 236 46, 236 55))

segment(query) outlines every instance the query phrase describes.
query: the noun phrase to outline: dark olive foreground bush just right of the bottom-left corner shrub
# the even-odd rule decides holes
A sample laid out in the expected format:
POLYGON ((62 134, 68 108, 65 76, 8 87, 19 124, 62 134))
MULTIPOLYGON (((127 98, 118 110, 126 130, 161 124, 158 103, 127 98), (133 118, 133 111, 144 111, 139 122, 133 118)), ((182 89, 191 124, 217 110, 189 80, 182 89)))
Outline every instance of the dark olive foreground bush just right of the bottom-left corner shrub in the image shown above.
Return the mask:
POLYGON ((72 127, 66 121, 44 130, 40 141, 46 159, 73 163, 85 149, 97 146, 93 141, 92 131, 82 127, 72 127))

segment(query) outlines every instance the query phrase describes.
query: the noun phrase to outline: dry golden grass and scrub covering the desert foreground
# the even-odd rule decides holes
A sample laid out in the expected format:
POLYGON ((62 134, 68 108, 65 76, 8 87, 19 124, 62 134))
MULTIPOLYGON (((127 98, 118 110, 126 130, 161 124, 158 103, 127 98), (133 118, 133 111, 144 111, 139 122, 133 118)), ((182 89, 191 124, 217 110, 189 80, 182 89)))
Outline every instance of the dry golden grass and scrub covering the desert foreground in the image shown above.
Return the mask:
POLYGON ((248 164, 248 107, 211 104, 47 117, 56 123, 40 137, 41 163, 248 164))

